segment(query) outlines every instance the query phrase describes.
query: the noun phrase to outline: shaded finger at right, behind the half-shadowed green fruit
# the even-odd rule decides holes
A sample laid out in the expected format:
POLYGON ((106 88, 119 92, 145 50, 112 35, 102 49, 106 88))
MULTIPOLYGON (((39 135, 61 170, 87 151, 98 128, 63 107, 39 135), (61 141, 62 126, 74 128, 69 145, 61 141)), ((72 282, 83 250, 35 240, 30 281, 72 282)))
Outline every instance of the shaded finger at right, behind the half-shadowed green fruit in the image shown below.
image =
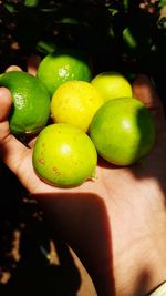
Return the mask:
POLYGON ((133 93, 151 110, 157 127, 164 129, 166 125, 164 108, 152 81, 146 75, 138 75, 133 83, 133 93))

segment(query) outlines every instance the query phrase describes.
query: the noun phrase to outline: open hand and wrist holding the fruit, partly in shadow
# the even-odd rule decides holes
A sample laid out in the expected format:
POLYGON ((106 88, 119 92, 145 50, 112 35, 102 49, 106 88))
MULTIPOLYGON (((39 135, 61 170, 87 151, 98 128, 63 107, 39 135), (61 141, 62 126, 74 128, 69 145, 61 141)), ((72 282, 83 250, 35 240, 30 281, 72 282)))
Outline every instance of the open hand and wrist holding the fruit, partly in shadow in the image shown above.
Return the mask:
POLYGON ((77 254, 98 296, 142 296, 166 280, 166 121, 145 75, 137 76, 133 92, 156 123, 152 152, 127 167, 98 160, 94 181, 63 190, 35 175, 34 141, 25 146, 10 133, 11 94, 0 89, 0 159, 37 198, 52 231, 77 254))

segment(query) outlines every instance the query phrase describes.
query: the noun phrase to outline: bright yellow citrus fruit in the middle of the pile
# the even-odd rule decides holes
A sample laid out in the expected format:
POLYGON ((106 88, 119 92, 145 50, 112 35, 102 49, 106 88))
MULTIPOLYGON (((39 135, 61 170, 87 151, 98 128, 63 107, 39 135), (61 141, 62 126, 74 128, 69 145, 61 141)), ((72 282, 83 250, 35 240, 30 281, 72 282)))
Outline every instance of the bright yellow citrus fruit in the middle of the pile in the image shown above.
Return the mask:
POLYGON ((53 122, 74 124, 87 132, 102 104, 102 96, 91 83, 68 81, 59 86, 51 99, 51 116, 53 122))

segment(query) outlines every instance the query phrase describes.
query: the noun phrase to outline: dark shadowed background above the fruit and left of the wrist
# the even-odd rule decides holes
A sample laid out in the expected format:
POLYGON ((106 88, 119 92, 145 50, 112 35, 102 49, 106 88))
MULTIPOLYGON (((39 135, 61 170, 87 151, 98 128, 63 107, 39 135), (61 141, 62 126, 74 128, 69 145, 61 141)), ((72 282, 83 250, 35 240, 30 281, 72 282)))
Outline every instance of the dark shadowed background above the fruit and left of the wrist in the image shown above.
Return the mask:
MULTIPOLYGON (((10 64, 25 70, 32 53, 42 58, 58 47, 87 52, 94 74, 114 70, 132 81, 146 73, 165 106, 165 0, 0 1, 1 73, 10 64)), ((76 295, 81 278, 68 246, 52 237, 35 201, 2 163, 0 191, 0 295, 48 296, 54 287, 54 295, 76 295), (50 241, 59 265, 50 264, 50 241)))

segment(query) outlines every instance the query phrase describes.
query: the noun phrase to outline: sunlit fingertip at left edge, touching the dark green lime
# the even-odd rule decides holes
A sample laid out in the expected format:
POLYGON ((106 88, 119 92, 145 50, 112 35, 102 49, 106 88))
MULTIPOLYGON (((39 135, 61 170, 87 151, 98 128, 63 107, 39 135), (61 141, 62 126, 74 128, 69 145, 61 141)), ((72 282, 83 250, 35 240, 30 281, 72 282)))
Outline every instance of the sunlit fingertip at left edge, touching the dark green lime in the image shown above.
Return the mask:
POLYGON ((0 88, 0 123, 8 120, 11 106, 11 92, 6 88, 0 88))

